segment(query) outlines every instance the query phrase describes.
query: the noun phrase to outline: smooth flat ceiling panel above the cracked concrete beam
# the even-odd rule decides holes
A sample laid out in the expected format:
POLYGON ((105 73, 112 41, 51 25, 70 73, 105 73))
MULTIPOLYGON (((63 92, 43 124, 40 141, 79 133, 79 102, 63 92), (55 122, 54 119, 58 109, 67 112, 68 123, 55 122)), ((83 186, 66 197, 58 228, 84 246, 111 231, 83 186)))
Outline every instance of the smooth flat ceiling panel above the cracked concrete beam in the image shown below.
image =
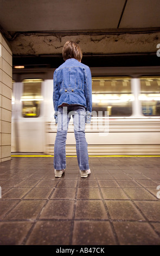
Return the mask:
POLYGON ((1 0, 8 32, 160 27, 159 0, 1 0))

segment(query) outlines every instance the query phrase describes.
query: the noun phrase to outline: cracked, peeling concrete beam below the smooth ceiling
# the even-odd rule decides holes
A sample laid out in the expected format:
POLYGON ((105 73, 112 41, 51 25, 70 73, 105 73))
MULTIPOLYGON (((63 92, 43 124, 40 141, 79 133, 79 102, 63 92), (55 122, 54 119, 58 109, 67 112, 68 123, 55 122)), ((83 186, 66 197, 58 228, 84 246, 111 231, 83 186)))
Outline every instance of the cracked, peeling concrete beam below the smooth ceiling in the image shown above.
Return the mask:
POLYGON ((67 40, 80 44, 84 54, 156 53, 160 32, 101 35, 20 34, 10 41, 16 56, 61 54, 67 40))

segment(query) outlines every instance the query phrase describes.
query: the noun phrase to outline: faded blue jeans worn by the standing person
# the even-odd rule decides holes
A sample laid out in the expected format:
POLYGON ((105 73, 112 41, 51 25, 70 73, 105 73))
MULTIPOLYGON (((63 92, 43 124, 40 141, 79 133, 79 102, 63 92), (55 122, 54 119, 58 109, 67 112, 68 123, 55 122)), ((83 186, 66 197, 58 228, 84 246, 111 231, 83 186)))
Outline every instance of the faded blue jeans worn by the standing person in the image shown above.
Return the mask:
POLYGON ((88 144, 85 137, 85 114, 85 107, 80 105, 58 108, 58 126, 54 144, 54 168, 56 170, 66 168, 66 139, 71 115, 73 116, 76 156, 79 169, 89 169, 88 144))

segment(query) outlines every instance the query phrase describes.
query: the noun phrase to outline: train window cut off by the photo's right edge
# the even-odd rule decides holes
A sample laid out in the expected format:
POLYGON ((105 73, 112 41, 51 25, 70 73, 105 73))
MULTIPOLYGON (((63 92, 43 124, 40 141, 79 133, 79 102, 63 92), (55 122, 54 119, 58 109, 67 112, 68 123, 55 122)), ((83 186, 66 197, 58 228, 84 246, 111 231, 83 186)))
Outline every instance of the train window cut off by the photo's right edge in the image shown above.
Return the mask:
POLYGON ((160 115, 160 76, 141 77, 139 100, 144 115, 160 115))

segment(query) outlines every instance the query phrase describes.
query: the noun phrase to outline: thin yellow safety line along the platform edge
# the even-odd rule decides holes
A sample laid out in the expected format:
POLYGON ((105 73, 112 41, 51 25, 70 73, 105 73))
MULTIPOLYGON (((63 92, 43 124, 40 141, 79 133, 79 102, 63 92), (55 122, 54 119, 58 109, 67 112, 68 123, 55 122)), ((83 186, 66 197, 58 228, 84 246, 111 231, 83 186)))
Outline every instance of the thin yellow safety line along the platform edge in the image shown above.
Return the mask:
MULTIPOLYGON (((52 155, 11 155, 11 157, 54 157, 52 155)), ((76 157, 76 156, 66 156, 76 157)), ((107 155, 107 156, 89 156, 89 157, 160 157, 160 155, 107 155)))

